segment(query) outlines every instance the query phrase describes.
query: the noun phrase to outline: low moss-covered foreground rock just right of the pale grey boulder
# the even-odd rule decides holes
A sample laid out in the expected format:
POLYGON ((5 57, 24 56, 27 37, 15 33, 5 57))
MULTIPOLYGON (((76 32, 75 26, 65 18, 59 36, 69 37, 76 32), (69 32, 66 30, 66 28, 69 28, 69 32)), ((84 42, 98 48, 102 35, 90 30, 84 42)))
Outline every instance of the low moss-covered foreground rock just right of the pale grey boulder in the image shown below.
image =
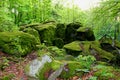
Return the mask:
POLYGON ((83 66, 80 65, 79 62, 76 61, 56 61, 54 60, 52 63, 46 63, 43 67, 43 69, 41 69, 38 74, 37 77, 40 80, 48 80, 48 77, 55 71, 57 71, 58 69, 60 69, 60 67, 64 64, 67 63, 67 65, 64 66, 61 74, 58 76, 60 78, 64 78, 64 79, 68 79, 71 76, 74 75, 78 75, 80 76, 80 73, 76 73, 76 69, 80 69, 83 68, 83 66), (76 65, 76 66, 74 66, 76 65), (65 70, 68 69, 68 71, 65 70), (48 76, 49 74, 49 76, 48 76))

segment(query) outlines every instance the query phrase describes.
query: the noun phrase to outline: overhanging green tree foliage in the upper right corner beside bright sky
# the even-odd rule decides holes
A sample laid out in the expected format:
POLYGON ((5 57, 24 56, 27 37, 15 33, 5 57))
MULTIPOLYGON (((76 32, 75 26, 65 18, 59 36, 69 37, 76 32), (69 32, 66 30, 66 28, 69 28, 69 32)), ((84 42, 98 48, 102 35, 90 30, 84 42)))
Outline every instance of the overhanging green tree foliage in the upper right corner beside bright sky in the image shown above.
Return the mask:
POLYGON ((112 38, 120 34, 119 0, 103 0, 88 13, 86 24, 94 28, 95 36, 100 39, 105 34, 112 38))

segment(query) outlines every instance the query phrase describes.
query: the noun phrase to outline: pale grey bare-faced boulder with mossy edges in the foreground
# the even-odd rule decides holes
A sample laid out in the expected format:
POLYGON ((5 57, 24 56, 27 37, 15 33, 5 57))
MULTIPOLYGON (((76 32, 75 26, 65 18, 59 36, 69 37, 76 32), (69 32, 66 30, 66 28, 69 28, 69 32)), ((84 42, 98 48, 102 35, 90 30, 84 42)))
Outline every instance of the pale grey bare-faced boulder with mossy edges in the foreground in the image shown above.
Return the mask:
MULTIPOLYGON (((29 64, 27 64, 25 71, 26 74, 29 76, 30 80, 45 80, 43 73, 44 68, 46 68, 46 64, 49 65, 51 64, 52 59, 50 56, 48 55, 42 55, 41 57, 38 57, 37 59, 31 61, 29 64), (40 72, 39 72, 40 71, 40 72), (39 75, 39 73, 42 73, 41 75, 39 75), (38 76, 36 76, 38 75, 38 76)), ((47 69, 49 69, 49 67, 47 67, 47 69)))

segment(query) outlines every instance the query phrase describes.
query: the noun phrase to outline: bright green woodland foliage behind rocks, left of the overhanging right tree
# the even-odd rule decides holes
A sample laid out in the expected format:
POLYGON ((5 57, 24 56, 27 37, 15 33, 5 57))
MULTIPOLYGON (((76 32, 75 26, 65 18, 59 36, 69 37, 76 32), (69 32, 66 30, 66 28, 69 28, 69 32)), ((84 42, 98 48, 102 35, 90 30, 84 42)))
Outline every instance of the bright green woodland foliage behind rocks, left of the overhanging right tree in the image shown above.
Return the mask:
POLYGON ((6 16, 6 20, 11 19, 12 24, 17 25, 51 20, 66 23, 84 22, 85 13, 74 4, 72 8, 64 7, 63 3, 66 2, 65 0, 55 2, 52 0, 26 0, 25 2, 24 0, 3 0, 0 2, 0 9, 4 10, 1 9, 0 16, 6 16))

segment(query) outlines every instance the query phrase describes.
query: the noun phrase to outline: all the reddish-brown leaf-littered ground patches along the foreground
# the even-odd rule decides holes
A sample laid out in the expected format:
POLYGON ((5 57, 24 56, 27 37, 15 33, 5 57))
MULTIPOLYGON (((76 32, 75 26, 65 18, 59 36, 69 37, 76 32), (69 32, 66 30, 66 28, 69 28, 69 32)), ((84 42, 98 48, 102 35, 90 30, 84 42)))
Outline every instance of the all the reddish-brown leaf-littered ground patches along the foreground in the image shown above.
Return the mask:
MULTIPOLYGON (((32 52, 28 54, 24 58, 16 58, 0 52, 0 63, 2 63, 0 70, 0 79, 7 80, 28 80, 28 76, 25 73, 26 64, 30 63, 32 60, 37 58, 36 52, 32 52), (9 79, 11 78, 11 79, 9 79)), ((89 77, 93 75, 93 71, 84 74, 82 76, 82 80, 87 80, 89 77)), ((79 80, 80 77, 73 76, 68 80, 79 80)), ((56 80, 64 80, 61 78, 57 78, 56 80)))

